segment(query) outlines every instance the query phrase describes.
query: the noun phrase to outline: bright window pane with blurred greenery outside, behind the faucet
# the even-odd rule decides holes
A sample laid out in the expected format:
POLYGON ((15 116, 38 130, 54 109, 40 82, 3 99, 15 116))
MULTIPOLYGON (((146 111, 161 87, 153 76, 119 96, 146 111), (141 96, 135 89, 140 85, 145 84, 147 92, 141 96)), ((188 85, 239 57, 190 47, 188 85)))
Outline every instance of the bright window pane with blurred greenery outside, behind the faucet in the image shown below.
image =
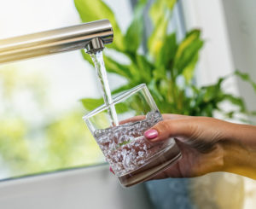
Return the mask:
MULTIPOLYGON (((1 3, 1 39, 79 23, 72 0, 1 3)), ((97 82, 79 50, 1 65, 0 178, 104 162, 79 102, 100 96, 97 82)))

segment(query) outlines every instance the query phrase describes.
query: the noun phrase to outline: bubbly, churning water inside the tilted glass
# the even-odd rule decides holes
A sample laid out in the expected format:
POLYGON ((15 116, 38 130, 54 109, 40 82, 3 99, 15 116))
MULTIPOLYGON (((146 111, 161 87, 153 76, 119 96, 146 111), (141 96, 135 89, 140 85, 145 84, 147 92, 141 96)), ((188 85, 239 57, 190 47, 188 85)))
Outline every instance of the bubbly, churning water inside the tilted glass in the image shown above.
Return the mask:
POLYGON ((165 142, 152 144, 143 136, 144 131, 160 120, 160 113, 152 111, 141 121, 94 132, 96 142, 117 176, 145 165, 148 159, 166 147, 165 142))

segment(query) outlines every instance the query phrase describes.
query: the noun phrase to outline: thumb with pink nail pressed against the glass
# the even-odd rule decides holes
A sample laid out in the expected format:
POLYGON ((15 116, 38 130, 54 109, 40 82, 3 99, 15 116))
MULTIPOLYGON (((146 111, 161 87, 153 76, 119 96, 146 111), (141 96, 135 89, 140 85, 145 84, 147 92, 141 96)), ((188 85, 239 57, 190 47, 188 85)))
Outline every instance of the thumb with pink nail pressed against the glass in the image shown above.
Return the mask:
POLYGON ((144 136, 151 142, 159 142, 169 137, 191 136, 193 127, 191 119, 166 119, 162 120, 148 131, 144 136))

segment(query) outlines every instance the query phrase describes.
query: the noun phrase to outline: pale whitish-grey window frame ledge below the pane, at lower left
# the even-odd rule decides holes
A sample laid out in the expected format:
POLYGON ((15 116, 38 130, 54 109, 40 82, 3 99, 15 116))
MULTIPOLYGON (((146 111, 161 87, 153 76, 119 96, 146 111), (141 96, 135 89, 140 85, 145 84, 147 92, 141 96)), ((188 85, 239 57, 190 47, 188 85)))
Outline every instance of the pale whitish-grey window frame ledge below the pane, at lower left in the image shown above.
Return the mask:
POLYGON ((0 183, 4 209, 151 209, 143 184, 124 189, 108 165, 56 171, 0 183))

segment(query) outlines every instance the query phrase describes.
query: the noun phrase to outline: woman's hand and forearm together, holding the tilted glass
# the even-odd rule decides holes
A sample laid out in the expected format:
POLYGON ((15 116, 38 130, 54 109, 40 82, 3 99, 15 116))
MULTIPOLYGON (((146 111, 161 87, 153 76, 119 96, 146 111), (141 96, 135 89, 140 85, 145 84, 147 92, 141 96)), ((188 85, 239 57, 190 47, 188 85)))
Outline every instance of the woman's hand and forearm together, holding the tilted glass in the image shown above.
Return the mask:
POLYGON ((154 179, 198 177, 230 171, 256 179, 256 127, 219 119, 163 115, 164 120, 145 131, 151 142, 174 137, 183 157, 154 179))

